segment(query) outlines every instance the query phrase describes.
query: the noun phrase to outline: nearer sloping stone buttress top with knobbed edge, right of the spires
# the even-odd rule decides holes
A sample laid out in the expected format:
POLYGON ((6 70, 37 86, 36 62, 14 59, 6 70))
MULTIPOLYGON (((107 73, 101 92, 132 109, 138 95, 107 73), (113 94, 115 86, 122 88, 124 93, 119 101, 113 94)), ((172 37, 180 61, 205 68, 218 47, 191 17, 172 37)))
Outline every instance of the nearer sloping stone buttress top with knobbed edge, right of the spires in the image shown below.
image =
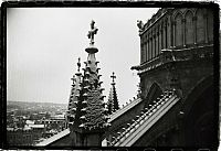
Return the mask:
POLYGON ((135 143, 154 123, 156 123, 177 101, 179 98, 175 91, 166 91, 157 100, 152 101, 148 108, 145 108, 129 127, 123 128, 123 132, 113 138, 109 145, 130 147, 135 143))

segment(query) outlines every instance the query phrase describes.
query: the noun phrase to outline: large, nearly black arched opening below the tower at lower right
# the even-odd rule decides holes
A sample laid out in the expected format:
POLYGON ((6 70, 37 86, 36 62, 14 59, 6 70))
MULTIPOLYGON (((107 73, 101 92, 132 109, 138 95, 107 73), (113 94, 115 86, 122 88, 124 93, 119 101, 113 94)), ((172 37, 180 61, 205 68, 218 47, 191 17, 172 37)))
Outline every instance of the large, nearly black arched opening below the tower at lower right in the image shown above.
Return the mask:
POLYGON ((218 142, 214 87, 208 79, 201 82, 186 100, 189 108, 183 120, 187 147, 215 147, 218 142))

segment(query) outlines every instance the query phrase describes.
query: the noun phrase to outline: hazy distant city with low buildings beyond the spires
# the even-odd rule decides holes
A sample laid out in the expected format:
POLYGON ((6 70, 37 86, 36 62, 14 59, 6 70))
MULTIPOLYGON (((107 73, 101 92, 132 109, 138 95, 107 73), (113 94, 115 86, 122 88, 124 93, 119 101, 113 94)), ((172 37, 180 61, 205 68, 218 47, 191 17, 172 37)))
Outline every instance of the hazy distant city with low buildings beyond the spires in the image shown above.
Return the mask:
POLYGON ((66 104, 8 100, 8 145, 34 145, 66 129, 66 104))

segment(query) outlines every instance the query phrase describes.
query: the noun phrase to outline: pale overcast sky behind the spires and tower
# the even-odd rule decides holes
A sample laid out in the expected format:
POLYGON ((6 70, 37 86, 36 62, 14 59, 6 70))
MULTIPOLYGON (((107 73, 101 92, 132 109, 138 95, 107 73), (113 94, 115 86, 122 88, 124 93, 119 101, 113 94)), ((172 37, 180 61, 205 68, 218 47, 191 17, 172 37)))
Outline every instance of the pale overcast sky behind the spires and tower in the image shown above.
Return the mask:
MULTIPOLYGON (((137 20, 146 22, 157 8, 10 8, 7 11, 7 99, 69 103, 77 57, 87 58, 86 34, 93 19, 98 32, 96 60, 106 100, 116 73, 120 106, 136 96, 139 77, 137 20)), ((106 101, 105 100, 105 101, 106 101)))

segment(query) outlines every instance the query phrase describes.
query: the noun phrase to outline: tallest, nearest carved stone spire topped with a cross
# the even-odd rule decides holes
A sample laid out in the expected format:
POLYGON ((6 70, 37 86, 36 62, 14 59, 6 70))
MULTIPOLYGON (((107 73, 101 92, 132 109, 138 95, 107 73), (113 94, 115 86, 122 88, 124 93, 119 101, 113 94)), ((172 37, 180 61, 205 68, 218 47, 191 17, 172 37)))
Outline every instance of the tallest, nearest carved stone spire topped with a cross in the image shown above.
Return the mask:
MULTIPOLYGON (((94 34, 97 33, 97 29, 94 26, 94 23, 95 22, 92 21, 91 31, 88 32, 91 43, 85 50, 88 53, 88 56, 87 61, 84 62, 84 73, 78 85, 78 101, 73 131, 80 133, 99 133, 97 136, 101 136, 101 133, 104 132, 106 127, 109 125, 107 123, 107 110, 105 109, 104 103, 104 88, 101 86, 101 75, 98 74, 101 68, 97 67, 98 62, 95 57, 95 53, 98 52, 98 48, 94 46, 94 34)), ((80 72, 80 62, 77 63, 77 72, 80 72)))

